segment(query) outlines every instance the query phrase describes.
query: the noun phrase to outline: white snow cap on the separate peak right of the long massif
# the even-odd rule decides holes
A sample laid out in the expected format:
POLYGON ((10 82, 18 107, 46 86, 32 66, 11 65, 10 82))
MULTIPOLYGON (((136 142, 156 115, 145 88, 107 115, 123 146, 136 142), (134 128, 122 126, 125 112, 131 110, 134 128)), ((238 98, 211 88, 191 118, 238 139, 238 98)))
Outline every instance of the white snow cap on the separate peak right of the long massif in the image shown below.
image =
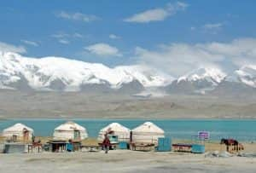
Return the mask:
POLYGON ((189 72, 183 77, 178 78, 177 83, 180 83, 181 81, 195 82, 195 81, 206 80, 207 82, 217 85, 225 77, 226 77, 226 74, 221 70, 219 70, 218 68, 207 67, 207 68, 199 68, 199 69, 196 69, 195 71, 189 72))

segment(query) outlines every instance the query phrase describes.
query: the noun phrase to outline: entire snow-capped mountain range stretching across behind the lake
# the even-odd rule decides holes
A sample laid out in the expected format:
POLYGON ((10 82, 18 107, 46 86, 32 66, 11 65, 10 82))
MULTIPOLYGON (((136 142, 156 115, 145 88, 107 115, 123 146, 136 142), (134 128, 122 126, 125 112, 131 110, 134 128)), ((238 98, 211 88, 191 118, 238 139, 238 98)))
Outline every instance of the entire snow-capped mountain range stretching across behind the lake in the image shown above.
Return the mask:
POLYGON ((231 74, 201 67, 173 78, 148 66, 110 68, 62 57, 38 59, 0 52, 0 89, 136 94, 152 88, 174 94, 251 94, 256 91, 256 66, 241 66, 231 74))

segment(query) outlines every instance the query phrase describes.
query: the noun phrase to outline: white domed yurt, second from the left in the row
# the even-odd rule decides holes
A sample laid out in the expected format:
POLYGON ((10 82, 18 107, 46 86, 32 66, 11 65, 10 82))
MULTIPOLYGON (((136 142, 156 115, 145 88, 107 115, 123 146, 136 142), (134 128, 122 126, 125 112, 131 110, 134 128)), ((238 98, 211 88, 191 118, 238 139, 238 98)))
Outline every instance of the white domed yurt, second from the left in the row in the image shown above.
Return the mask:
POLYGON ((55 128, 53 137, 54 140, 84 140, 88 134, 81 125, 68 121, 55 128))

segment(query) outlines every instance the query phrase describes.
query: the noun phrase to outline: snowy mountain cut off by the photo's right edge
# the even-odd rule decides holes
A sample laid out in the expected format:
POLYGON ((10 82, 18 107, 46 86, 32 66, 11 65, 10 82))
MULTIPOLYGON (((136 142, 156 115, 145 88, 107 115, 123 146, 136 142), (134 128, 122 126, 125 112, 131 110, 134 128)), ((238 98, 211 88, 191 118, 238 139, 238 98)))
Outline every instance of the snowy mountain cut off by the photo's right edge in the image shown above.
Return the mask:
POLYGON ((228 76, 226 79, 228 82, 242 83, 247 86, 256 88, 256 66, 241 66, 239 70, 236 70, 228 76))

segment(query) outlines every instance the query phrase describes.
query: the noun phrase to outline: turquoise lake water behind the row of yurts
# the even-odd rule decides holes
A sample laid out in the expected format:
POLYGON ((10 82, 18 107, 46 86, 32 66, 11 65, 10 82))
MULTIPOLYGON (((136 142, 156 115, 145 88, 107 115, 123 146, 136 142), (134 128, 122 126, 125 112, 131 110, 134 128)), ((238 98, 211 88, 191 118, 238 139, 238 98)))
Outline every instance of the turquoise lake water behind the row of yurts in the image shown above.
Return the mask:
MULTIPOLYGON (((165 130, 166 136, 177 139, 191 139, 198 131, 210 132, 211 140, 219 140, 222 137, 232 137, 239 141, 256 141, 256 119, 234 119, 234 120, 142 120, 142 119, 73 119, 74 122, 84 126, 90 137, 96 137, 99 130, 106 125, 117 122, 125 125, 131 130, 145 121, 151 121, 165 130)), ((65 123, 61 119, 15 119, 0 121, 0 130, 15 123, 26 124, 31 127, 36 136, 52 136, 56 126, 65 123)))

